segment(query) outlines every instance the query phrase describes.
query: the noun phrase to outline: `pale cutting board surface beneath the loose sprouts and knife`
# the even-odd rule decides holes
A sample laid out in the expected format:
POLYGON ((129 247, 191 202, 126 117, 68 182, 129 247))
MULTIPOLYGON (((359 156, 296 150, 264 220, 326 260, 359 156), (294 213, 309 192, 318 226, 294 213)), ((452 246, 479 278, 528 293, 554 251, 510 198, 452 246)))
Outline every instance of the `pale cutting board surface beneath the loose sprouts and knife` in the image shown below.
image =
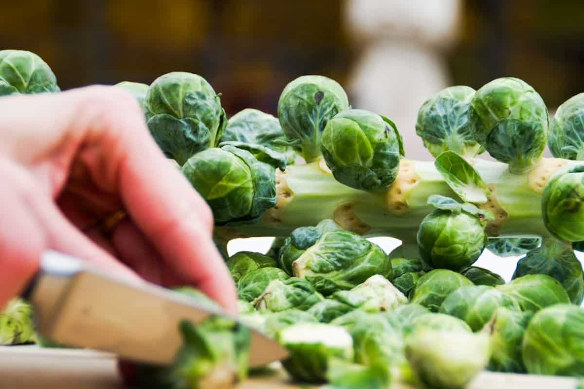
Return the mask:
MULTIPOLYGON (((483 372, 467 389, 576 389, 579 381, 565 377, 483 372)), ((121 389, 116 358, 105 352, 0 346, 2 389, 121 389)), ((251 377, 238 389, 298 389, 281 369, 251 377)), ((392 389, 412 389, 395 386, 392 389)))

